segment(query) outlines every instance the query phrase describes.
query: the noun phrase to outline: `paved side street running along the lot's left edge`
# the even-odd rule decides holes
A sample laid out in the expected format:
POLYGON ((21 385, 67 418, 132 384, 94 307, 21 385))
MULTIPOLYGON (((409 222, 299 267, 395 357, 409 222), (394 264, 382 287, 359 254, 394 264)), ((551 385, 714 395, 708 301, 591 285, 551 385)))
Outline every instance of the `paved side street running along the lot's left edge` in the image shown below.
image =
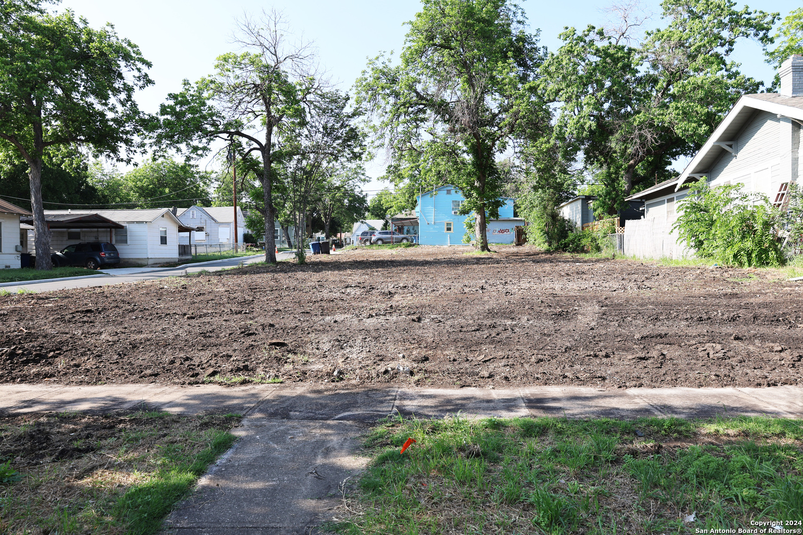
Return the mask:
MULTIPOLYGON (((279 253, 276 259, 287 260, 293 256, 292 251, 279 253)), ((68 280, 55 280, 47 282, 37 282, 31 284, 30 282, 20 282, 14 286, 3 286, 2 290, 7 290, 12 294, 16 294, 18 290, 26 290, 33 292, 52 292, 55 290, 66 290, 68 288, 88 288, 91 286, 108 286, 110 284, 123 284, 124 282, 139 282, 149 281, 159 278, 168 277, 181 277, 186 274, 198 273, 198 271, 219 271, 226 268, 243 264, 253 264, 255 262, 263 261, 264 256, 258 255, 253 257, 237 257, 226 258, 224 260, 214 260, 208 262, 199 262, 197 264, 179 265, 174 268, 120 268, 117 270, 104 270, 108 277, 82 277, 71 278, 68 280)))

